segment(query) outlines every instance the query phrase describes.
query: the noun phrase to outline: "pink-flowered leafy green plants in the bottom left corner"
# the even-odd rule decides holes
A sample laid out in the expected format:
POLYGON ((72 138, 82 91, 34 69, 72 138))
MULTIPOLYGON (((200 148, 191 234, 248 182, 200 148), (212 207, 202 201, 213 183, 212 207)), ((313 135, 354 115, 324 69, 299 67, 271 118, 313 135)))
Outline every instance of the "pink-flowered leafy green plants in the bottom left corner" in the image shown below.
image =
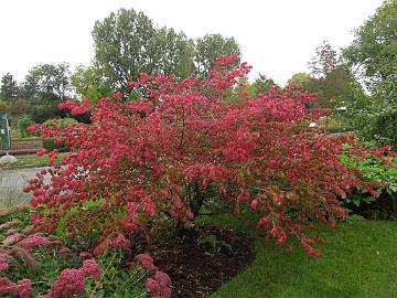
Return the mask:
POLYGON ((151 284, 160 283, 159 278, 161 297, 171 297, 170 278, 149 255, 126 262, 127 240, 115 240, 106 253, 94 258, 82 247, 71 249, 61 238, 35 232, 26 225, 29 213, 22 205, 0 211, 1 297, 148 297, 150 292, 155 296, 151 284))

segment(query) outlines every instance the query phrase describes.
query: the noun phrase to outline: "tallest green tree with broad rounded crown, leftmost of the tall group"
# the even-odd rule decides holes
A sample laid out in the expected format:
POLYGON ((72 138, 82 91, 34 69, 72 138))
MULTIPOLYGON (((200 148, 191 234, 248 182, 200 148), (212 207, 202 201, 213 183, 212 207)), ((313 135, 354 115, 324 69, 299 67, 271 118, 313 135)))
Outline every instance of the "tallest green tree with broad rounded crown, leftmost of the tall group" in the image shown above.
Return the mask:
POLYGON ((120 9, 97 21, 93 38, 96 66, 114 88, 121 88, 142 72, 152 73, 159 62, 155 28, 133 9, 120 9))

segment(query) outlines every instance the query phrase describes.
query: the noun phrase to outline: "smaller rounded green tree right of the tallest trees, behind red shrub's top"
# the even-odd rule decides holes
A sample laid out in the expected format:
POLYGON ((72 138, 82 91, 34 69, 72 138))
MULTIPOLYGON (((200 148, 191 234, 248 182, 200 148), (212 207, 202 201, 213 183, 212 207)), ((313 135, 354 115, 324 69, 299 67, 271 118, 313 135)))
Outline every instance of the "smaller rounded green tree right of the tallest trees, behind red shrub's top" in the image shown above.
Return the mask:
POLYGON ((221 55, 238 55, 242 51, 234 38, 224 38, 221 34, 206 34, 196 40, 195 45, 195 73, 207 74, 221 55))

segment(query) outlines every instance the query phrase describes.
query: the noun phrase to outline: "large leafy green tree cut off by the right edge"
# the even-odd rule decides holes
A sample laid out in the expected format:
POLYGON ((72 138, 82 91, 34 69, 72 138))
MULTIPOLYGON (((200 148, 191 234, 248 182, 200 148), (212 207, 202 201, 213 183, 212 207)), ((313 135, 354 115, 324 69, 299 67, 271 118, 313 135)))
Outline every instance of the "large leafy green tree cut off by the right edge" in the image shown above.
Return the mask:
POLYGON ((363 137, 397 147, 397 1, 386 0, 355 31, 343 57, 369 95, 350 97, 346 117, 363 137))

